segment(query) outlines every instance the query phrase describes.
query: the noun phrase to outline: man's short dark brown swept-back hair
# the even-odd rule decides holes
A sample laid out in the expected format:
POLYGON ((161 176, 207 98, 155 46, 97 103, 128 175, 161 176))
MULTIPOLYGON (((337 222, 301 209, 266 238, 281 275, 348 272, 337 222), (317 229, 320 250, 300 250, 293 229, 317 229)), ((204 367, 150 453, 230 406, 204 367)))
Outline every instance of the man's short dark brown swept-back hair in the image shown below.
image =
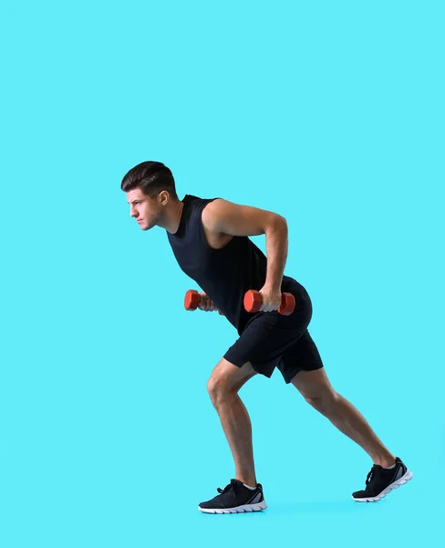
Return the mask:
POLYGON ((120 188, 124 192, 140 188, 144 195, 151 198, 159 195, 162 190, 167 190, 172 198, 178 199, 173 174, 161 162, 138 163, 122 179, 120 188))

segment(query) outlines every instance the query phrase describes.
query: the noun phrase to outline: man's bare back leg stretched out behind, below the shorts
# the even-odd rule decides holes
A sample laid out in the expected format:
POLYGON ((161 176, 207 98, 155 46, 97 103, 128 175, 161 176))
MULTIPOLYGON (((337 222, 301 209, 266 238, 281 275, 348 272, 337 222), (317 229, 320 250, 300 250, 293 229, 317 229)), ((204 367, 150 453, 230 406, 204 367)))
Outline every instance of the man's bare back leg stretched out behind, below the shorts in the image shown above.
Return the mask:
POLYGON ((324 368, 300 371, 295 375, 292 384, 305 397, 306 402, 364 448, 374 464, 388 467, 396 462, 394 455, 378 439, 365 417, 346 398, 336 393, 324 368))

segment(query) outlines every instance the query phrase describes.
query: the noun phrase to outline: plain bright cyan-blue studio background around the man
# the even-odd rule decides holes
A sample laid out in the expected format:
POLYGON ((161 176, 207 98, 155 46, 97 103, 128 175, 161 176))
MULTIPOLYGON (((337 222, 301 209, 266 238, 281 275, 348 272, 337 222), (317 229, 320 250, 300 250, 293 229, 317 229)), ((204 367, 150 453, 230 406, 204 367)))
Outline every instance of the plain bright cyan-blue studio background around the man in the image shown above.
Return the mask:
POLYGON ((4 0, 0 21, 2 546, 438 545, 443 3, 4 0), (352 501, 372 462, 275 372, 241 392, 268 510, 197 511, 233 477, 206 382, 236 332, 183 309, 165 231, 129 218, 145 160, 180 197, 287 218, 326 372, 407 486, 352 501))

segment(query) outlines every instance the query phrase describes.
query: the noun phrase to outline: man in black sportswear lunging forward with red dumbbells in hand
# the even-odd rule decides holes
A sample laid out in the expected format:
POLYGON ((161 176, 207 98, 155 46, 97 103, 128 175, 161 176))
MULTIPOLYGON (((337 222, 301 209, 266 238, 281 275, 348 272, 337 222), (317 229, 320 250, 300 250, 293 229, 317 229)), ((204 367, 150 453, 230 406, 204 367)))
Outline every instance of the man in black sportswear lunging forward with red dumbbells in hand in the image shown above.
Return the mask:
POLYGON ((285 218, 270 211, 236 205, 220 198, 185 195, 179 200, 171 170, 160 162, 143 162, 126 174, 121 189, 142 230, 165 228, 181 269, 202 288, 200 308, 218 310, 237 329, 239 338, 212 371, 208 391, 233 453, 235 478, 199 510, 208 513, 260 511, 266 508, 257 483, 252 427, 238 391, 255 374, 270 377, 278 368, 341 432, 372 458, 366 489, 355 501, 378 501, 411 479, 365 418, 330 385, 307 326, 312 303, 305 288, 284 275, 287 257, 285 218), (265 235, 266 254, 249 236, 265 235), (247 290, 259 290, 260 311, 244 310, 247 290), (295 296, 295 311, 282 315, 282 292, 295 296))

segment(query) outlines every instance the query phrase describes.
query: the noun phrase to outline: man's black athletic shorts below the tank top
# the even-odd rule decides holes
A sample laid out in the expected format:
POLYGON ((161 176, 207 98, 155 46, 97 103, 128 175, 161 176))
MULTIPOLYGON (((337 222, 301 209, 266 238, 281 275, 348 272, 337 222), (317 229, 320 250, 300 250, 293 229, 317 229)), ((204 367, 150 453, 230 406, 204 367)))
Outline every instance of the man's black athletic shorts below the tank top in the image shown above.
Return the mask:
POLYGON ((321 369, 323 362, 307 331, 312 318, 307 291, 296 281, 283 290, 295 296, 295 311, 289 316, 277 311, 255 314, 224 358, 237 367, 250 362, 257 373, 269 378, 277 367, 289 384, 299 371, 321 369))

